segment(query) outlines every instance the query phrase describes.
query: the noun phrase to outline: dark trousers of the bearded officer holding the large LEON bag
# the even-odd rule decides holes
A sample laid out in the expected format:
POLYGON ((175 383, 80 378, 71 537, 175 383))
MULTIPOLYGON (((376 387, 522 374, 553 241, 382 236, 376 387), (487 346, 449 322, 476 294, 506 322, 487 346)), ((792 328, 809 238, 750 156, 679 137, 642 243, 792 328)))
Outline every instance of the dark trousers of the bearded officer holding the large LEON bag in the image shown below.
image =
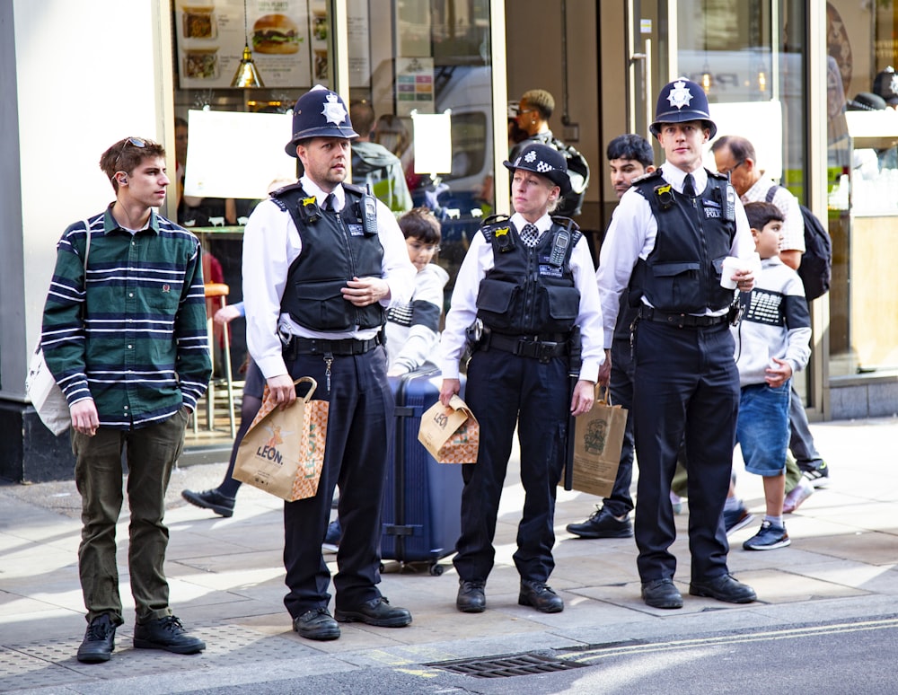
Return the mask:
MULTIPOLYGON (((343 534, 334 576, 336 607, 345 610, 380 597, 381 500, 395 409, 386 377, 383 347, 363 355, 334 356, 330 394, 321 355, 300 355, 286 363, 294 379, 318 382, 313 398, 330 400, 324 468, 318 493, 284 503, 284 598, 294 618, 330 602, 330 571, 321 555, 330 502, 339 483, 343 534)), ((302 393, 303 391, 300 391, 302 393)))

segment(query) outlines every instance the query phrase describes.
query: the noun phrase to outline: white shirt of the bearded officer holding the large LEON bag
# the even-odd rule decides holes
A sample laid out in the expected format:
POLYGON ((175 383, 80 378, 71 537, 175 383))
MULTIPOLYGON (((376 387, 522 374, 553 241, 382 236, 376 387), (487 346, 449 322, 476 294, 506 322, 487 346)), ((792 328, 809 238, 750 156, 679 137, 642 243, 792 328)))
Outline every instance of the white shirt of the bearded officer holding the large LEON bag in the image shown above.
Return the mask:
MULTIPOLYGON (((304 191, 323 201, 327 194, 312 180, 300 180, 304 191)), ((340 185, 333 190, 335 209, 346 204, 346 191, 340 185)), ((389 298, 380 304, 386 308, 404 304, 411 297, 416 268, 409 261, 405 238, 390 209, 377 201, 377 235, 383 246, 382 277, 390 286, 389 298)), ((288 313, 281 313, 287 271, 303 251, 303 242, 293 217, 273 200, 263 200, 250 216, 243 232, 243 304, 246 308, 246 343, 252 359, 266 379, 287 374, 278 331, 302 338, 340 340, 374 338, 378 328, 345 332, 316 331, 300 326, 288 313)))

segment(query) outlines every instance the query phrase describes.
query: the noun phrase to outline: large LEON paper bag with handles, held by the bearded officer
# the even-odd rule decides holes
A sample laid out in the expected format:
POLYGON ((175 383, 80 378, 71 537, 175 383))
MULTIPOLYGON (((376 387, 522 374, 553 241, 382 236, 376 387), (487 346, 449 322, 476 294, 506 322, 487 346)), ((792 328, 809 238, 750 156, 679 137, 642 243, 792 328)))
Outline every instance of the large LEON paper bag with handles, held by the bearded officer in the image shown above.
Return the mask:
POLYGON ((318 383, 311 376, 295 381, 303 382, 312 384, 309 392, 285 409, 275 405, 265 387, 265 400, 243 436, 233 468, 233 479, 288 502, 318 492, 328 436, 330 403, 312 400, 318 383))

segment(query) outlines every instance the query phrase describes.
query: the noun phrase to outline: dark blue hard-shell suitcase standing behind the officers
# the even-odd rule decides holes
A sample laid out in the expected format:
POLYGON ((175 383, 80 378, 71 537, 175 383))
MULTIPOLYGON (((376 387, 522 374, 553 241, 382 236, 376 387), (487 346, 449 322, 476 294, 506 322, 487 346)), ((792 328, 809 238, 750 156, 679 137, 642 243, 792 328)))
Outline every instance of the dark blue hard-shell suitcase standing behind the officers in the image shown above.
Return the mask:
MULTIPOLYGON (((439 559, 455 550, 462 529, 462 467, 437 463, 418 442, 421 416, 439 398, 443 376, 436 367, 391 378, 395 427, 383 492, 381 557, 426 562, 440 576, 439 559)), ((465 377, 462 374, 464 397, 465 377)))

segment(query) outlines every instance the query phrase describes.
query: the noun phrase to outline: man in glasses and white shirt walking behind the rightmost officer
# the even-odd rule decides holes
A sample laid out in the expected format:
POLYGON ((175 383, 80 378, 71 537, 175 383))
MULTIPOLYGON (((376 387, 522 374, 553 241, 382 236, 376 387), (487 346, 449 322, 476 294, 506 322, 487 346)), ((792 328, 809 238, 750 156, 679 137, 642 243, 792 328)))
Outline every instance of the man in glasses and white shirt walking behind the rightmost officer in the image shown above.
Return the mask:
MULTIPOLYGON (((767 200, 768 192, 777 184, 764 175, 764 170, 758 166, 754 145, 746 138, 740 136, 718 137, 711 145, 711 153, 714 155, 718 172, 729 176, 736 194, 743 203, 766 201, 778 207, 782 212, 785 221, 783 223, 783 241, 779 247, 779 260, 782 260, 789 268, 797 270, 801 265, 801 254, 805 252, 805 222, 801 215, 801 208, 798 206, 798 199, 788 189, 780 186, 773 198, 767 200)), ((795 454, 798 469, 810 486, 823 488, 829 483, 830 469, 814 444, 814 435, 811 434, 811 428, 807 422, 805 403, 796 390, 795 380, 792 380, 791 384, 792 398, 789 406, 789 421, 792 434, 789 440, 789 449, 795 454)), ((788 465, 791 467, 792 464, 788 465)), ((793 495, 793 499, 787 504, 791 506, 793 502, 797 502, 792 507, 795 509, 813 492, 813 488, 799 484, 797 481, 800 478, 797 474, 791 478, 795 482, 788 488, 787 494, 793 495)), ((745 514, 747 513, 744 509, 742 511, 727 509, 727 515, 730 518, 728 527, 731 531, 735 530, 737 523, 744 522, 745 514), (742 521, 736 522, 736 519, 742 521)))

